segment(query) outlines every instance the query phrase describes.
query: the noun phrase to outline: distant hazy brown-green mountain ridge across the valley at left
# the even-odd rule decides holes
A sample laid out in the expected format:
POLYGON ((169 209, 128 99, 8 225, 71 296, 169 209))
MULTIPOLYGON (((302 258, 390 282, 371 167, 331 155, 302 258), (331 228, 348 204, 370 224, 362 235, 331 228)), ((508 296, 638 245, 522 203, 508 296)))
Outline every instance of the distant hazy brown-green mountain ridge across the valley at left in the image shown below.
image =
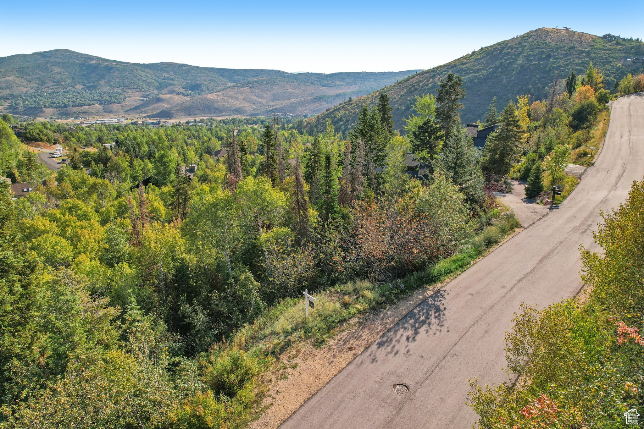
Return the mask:
POLYGON ((0 57, 0 109, 43 117, 319 113, 419 70, 287 73, 137 64, 70 50, 0 57), (116 102, 115 102, 116 101, 116 102))

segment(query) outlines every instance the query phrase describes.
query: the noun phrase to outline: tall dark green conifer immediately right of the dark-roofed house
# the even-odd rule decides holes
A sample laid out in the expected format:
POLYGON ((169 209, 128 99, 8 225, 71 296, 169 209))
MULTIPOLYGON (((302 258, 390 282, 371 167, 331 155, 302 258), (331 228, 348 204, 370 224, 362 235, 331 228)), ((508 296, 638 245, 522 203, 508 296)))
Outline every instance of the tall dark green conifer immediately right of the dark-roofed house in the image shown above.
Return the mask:
POLYGON ((509 102, 501 113, 498 131, 490 134, 486 141, 482 156, 483 169, 506 176, 520 152, 522 136, 516 106, 509 102))

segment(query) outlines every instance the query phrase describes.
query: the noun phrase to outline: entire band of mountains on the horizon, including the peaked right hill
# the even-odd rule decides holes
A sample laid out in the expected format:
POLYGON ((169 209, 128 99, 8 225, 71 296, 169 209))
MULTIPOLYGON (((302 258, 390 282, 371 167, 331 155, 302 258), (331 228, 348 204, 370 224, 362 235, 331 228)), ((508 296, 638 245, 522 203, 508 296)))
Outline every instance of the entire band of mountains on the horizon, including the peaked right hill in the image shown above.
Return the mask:
POLYGON ((553 83, 592 61, 612 89, 627 73, 644 71, 644 43, 567 28, 538 28, 480 48, 425 71, 287 73, 263 69, 202 68, 161 62, 135 64, 53 50, 0 57, 0 113, 41 118, 75 116, 193 118, 317 114, 309 131, 327 120, 336 131, 353 127, 362 106, 386 92, 397 129, 413 113, 416 96, 435 93, 441 78, 460 75, 466 90, 463 122, 482 118, 494 96, 501 109, 518 95, 547 98, 553 83), (628 64, 629 58, 639 62, 628 64), (335 105, 335 107, 330 107, 335 105))

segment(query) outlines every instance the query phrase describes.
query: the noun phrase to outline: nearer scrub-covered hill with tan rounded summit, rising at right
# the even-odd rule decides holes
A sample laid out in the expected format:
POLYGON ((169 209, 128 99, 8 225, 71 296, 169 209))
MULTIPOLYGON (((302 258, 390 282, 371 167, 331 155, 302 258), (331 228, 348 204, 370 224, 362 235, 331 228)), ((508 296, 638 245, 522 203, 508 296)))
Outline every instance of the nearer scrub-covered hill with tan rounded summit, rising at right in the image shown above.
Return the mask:
POLYGON ((493 97, 497 97, 498 105, 506 105, 520 95, 530 95, 530 101, 544 100, 555 80, 563 87, 571 71, 583 73, 590 61, 603 73, 605 86, 612 89, 627 73, 634 75, 642 69, 642 66, 623 66, 620 60, 643 53, 644 43, 638 40, 538 28, 422 71, 368 96, 341 103, 312 119, 309 131, 323 129, 330 119, 336 130, 346 135, 357 121, 362 106, 373 107, 381 93, 388 94, 395 127, 403 130, 403 118, 412 113, 415 96, 434 93, 439 80, 448 73, 462 77, 468 94, 463 122, 476 122, 482 119, 493 97))

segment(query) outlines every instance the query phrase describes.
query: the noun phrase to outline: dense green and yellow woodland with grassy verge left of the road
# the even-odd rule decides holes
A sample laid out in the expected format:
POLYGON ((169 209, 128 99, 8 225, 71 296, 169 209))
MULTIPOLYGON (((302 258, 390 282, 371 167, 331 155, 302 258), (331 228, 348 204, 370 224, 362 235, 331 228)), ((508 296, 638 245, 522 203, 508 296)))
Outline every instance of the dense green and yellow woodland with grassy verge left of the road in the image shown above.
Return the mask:
MULTIPOLYGON (((3 114, 0 176, 37 183, 14 200, 0 181, 0 428, 247 426, 291 345, 325 342, 518 226, 484 173, 569 192, 561 166, 588 158, 618 94, 591 65, 567 82, 551 102, 490 106, 500 131, 481 157, 451 74, 415 100, 406 136, 384 94, 346 140, 276 116, 20 123, 25 141, 66 147, 57 172, 3 114)), ((629 75, 620 94, 643 84, 629 75)))

